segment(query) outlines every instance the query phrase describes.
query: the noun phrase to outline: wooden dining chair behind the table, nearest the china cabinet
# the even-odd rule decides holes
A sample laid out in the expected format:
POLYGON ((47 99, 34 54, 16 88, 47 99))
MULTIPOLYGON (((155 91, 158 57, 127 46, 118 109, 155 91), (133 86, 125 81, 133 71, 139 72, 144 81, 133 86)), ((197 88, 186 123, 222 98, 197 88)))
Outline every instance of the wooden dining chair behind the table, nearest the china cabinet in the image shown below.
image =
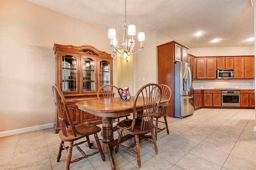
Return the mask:
MULTIPOLYGON (((118 87, 112 85, 112 84, 107 84, 107 85, 103 85, 101 86, 98 91, 97 91, 97 97, 98 99, 100 98, 114 98, 114 97, 119 97, 119 94, 118 94, 118 87)), ((128 115, 121 115, 121 116, 118 116, 118 117, 113 117, 112 119, 117 119, 117 122, 119 123, 120 122, 120 118, 122 117, 126 117, 126 119, 128 119, 128 115)))

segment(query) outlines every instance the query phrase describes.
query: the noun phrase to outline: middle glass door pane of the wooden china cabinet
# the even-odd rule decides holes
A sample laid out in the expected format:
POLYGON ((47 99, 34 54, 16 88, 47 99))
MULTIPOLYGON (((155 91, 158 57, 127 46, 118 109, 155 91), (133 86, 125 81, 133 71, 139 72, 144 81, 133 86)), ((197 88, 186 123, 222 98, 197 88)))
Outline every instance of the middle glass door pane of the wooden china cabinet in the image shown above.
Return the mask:
POLYGON ((95 58, 82 57, 82 92, 95 91, 95 58))

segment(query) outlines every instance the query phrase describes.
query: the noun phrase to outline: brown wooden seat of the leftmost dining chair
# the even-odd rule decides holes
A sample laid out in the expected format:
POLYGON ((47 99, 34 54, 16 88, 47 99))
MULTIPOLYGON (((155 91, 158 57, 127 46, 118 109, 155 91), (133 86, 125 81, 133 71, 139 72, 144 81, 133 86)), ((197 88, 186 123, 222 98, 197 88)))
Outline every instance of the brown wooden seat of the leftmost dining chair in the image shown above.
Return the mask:
POLYGON ((60 130, 59 131, 59 137, 62 141, 74 141, 74 140, 78 140, 78 139, 81 139, 83 137, 86 137, 88 135, 92 135, 94 133, 98 133, 100 132, 100 127, 86 121, 86 122, 83 122, 83 123, 80 123, 78 125, 75 125, 74 126, 76 128, 76 131, 78 131, 79 133, 82 133, 82 135, 80 134, 76 134, 77 136, 74 137, 74 134, 72 132, 72 129, 71 128, 67 128, 67 137, 65 137, 62 133, 62 131, 60 130), (89 133, 88 133, 89 132, 89 133))

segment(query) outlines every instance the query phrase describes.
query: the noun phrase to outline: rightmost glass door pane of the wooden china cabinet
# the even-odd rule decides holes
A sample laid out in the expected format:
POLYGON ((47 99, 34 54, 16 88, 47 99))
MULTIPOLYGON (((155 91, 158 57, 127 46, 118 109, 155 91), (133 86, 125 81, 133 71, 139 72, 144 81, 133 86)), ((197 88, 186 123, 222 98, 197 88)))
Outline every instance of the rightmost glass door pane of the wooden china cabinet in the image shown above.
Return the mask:
POLYGON ((100 86, 111 83, 110 68, 109 61, 100 61, 100 86))

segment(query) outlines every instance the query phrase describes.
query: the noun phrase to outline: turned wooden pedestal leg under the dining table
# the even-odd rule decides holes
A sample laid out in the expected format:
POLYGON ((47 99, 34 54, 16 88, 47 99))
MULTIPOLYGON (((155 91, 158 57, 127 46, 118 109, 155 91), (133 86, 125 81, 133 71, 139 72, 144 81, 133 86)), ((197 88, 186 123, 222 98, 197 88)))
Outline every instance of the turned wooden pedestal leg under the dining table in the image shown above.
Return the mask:
POLYGON ((112 117, 102 117, 102 142, 107 144, 108 147, 108 157, 112 170, 116 169, 114 158, 112 155, 112 141, 113 141, 113 131, 112 131, 112 117))

